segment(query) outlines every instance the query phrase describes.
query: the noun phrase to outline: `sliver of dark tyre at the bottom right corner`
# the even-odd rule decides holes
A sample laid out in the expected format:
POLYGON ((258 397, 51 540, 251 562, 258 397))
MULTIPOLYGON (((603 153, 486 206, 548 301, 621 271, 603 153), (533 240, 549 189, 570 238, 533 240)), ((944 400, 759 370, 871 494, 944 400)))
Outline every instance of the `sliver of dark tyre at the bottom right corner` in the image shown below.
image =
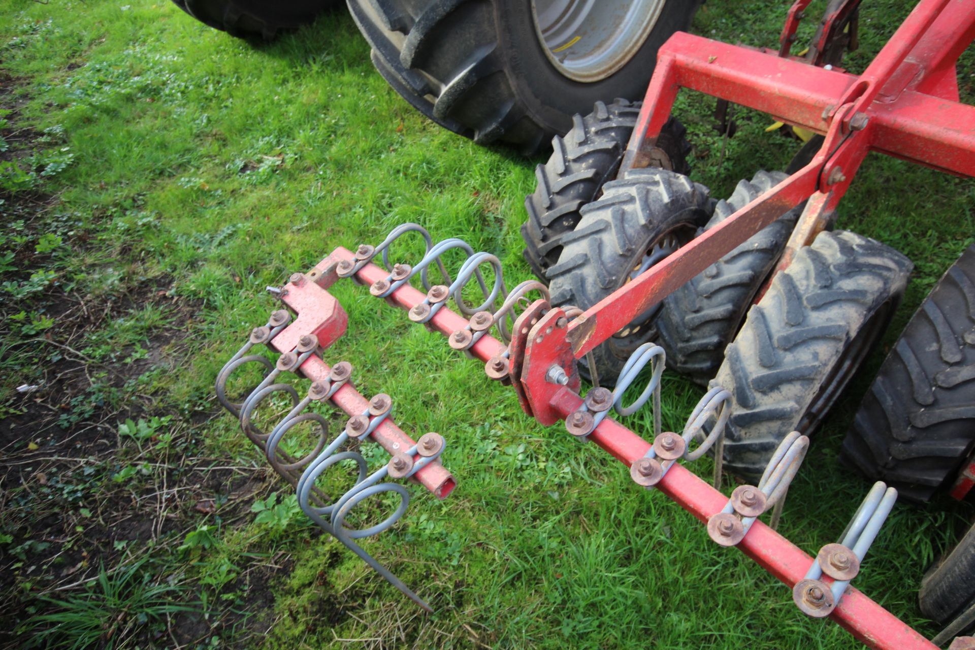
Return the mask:
POLYGON ((975 603, 975 526, 968 529, 951 554, 927 570, 917 601, 924 616, 942 625, 975 603))

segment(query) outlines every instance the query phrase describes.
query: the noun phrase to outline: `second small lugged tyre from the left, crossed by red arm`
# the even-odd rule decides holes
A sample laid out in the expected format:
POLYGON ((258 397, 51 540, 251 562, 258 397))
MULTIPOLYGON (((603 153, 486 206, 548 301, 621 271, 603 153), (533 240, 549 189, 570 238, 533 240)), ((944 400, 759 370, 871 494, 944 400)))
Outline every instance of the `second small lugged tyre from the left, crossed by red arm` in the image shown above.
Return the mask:
MULTIPOLYGON (((583 206, 548 271, 552 304, 588 309, 689 242, 714 208, 709 190, 687 176, 645 168, 604 185, 603 197, 583 206)), ((593 350, 599 381, 611 386, 623 364, 656 335, 653 307, 593 350)), ((589 362, 580 371, 593 379, 589 362)))

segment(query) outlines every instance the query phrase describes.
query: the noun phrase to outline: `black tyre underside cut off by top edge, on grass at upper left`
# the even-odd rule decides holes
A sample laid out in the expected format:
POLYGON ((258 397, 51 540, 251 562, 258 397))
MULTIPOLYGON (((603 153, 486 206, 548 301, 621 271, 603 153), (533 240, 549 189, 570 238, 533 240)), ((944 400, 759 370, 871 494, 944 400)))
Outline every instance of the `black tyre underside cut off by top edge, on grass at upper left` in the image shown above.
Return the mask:
POLYGON ((214 29, 231 36, 270 41, 281 32, 314 22, 337 9, 337 0, 268 3, 257 0, 173 0, 176 6, 214 29))

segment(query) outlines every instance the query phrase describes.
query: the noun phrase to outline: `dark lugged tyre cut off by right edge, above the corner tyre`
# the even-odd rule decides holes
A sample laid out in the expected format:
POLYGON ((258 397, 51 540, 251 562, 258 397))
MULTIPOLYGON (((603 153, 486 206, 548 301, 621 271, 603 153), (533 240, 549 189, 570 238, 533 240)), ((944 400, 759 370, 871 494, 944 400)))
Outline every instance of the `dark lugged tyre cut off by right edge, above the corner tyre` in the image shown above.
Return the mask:
POLYGON ((931 290, 880 366, 840 459, 923 502, 975 447, 975 245, 931 290))

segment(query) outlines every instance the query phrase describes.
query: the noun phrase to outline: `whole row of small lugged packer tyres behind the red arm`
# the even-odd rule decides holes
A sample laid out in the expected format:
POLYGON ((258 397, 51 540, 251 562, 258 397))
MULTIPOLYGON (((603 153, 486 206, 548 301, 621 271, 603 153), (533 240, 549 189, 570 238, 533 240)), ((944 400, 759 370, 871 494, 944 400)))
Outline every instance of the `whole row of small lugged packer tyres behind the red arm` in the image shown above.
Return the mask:
MULTIPOLYGON (((522 228, 525 257, 552 302, 587 309, 769 191, 757 172, 727 199, 687 175, 689 144, 671 118, 655 167, 617 177, 639 103, 598 102, 553 140, 536 169, 522 228)), ((802 206, 787 212, 580 360, 612 385, 639 346, 731 394, 724 466, 755 478, 792 431, 813 434, 876 347, 913 264, 878 241, 827 230, 775 272, 802 206)), ((975 245, 966 249, 891 344, 843 441, 840 462, 926 502, 975 446, 975 245)), ((921 609, 953 620, 975 601, 975 532, 926 576, 921 609)))

